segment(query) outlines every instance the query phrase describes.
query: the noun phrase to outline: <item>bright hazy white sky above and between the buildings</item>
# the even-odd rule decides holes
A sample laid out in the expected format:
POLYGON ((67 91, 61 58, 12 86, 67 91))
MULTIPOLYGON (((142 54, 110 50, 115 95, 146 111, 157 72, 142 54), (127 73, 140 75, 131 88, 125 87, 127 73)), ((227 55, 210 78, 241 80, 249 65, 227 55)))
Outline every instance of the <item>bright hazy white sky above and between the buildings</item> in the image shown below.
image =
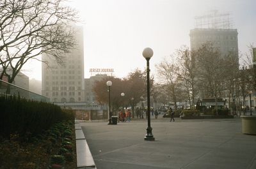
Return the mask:
MULTIPOLYGON (((195 17, 208 11, 230 13, 238 32, 239 51, 248 53, 256 45, 255 0, 69 0, 79 11, 84 28, 84 77, 90 68, 113 68, 115 77, 127 75, 146 61, 143 49, 152 48, 150 70, 182 45, 190 47, 189 31, 195 17)), ((26 74, 41 80, 41 63, 29 62, 26 74)))

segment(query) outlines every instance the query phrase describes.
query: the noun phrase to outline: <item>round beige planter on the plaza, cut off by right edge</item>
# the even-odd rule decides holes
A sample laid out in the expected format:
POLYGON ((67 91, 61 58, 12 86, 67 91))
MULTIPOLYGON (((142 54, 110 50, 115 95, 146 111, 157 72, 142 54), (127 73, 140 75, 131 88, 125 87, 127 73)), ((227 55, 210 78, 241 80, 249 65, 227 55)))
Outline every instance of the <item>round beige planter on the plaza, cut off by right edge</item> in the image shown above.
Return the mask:
POLYGON ((256 115, 241 115, 242 133, 256 135, 256 115))

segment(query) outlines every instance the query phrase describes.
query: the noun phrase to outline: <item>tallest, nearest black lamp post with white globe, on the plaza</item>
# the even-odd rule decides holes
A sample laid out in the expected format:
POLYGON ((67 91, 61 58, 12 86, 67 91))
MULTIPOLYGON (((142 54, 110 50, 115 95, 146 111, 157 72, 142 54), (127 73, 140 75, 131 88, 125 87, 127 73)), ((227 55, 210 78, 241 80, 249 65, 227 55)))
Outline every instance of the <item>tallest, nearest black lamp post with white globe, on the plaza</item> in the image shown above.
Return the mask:
POLYGON ((142 52, 143 57, 147 60, 147 102, 148 102, 148 107, 147 107, 147 116, 148 116, 148 127, 147 127, 147 133, 144 137, 144 140, 148 141, 154 141, 155 138, 152 134, 152 128, 150 126, 150 84, 149 84, 149 60, 153 55, 153 50, 151 48, 145 48, 142 52))

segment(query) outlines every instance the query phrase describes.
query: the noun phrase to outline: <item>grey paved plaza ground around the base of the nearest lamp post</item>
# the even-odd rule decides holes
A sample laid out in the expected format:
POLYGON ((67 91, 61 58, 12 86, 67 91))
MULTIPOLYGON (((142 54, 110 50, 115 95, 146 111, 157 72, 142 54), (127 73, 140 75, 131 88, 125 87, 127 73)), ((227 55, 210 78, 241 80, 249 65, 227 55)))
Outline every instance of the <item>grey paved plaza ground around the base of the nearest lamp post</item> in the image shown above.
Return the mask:
POLYGON ((147 121, 81 122, 98 169, 256 168, 256 135, 241 133, 241 119, 169 122, 152 119, 156 141, 145 141, 147 121))

